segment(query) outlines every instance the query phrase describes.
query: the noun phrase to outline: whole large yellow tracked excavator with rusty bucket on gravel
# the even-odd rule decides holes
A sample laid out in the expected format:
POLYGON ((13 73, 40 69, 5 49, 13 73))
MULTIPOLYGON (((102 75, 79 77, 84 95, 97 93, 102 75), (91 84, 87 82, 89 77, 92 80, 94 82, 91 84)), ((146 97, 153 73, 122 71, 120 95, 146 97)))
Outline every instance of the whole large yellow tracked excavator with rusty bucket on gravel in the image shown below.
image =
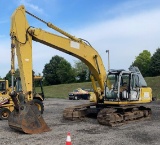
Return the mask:
MULTIPOLYGON (((63 111, 65 119, 81 119, 90 113, 96 113, 100 124, 116 126, 151 115, 151 109, 143 104, 152 101, 152 89, 147 87, 138 68, 131 67, 129 71, 110 70, 107 75, 100 55, 88 41, 76 38, 52 23, 38 18, 28 12, 23 5, 12 14, 10 36, 12 55, 15 49, 17 53, 23 88, 22 96, 25 98, 22 104, 17 104, 16 92, 11 93, 15 103, 15 110, 8 119, 11 128, 30 134, 50 131, 43 117, 30 101, 33 96, 32 41, 80 59, 91 72, 90 78, 96 101, 65 108, 63 111), (38 19, 63 36, 30 26, 26 14, 38 19)), ((12 65, 13 62, 14 60, 12 60, 12 65)), ((14 74, 13 70, 12 72, 14 74)))

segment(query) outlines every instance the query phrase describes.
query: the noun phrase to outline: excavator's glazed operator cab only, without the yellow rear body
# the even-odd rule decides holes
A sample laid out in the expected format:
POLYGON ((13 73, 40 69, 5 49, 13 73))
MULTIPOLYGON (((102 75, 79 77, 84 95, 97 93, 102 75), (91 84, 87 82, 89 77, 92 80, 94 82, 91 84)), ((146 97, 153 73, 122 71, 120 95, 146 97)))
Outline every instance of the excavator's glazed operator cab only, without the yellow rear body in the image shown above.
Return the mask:
POLYGON ((107 81, 110 81, 111 87, 105 89, 105 99, 109 101, 131 100, 131 72, 125 70, 112 70, 109 72, 107 81), (130 98, 129 98, 130 96, 130 98))

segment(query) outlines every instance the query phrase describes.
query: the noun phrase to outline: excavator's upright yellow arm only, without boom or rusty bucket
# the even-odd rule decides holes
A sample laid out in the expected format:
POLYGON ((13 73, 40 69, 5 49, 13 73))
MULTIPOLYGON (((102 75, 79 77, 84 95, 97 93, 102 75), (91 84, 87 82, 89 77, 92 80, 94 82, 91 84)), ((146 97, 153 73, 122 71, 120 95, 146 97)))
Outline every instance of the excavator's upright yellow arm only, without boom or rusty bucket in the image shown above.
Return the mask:
MULTIPOLYGON (((11 73, 14 76, 14 57, 15 51, 18 59, 18 66, 21 77, 21 84, 24 94, 26 95, 26 101, 32 100, 32 39, 29 37, 29 34, 26 33, 26 27, 29 27, 29 24, 25 20, 24 7, 16 9, 11 17, 11 73), (24 36, 25 35, 25 36, 24 36)), ((13 83, 13 77, 12 77, 13 83)), ((13 86, 13 84, 12 84, 13 86)))

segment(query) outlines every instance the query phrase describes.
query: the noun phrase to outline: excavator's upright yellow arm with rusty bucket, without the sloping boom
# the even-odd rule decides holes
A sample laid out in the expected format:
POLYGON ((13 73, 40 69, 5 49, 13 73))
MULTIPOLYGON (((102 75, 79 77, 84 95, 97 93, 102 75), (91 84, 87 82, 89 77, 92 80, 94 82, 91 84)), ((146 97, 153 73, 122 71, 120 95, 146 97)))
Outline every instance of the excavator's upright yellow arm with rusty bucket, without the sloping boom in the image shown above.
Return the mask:
POLYGON ((14 86, 14 57, 15 50, 18 58, 22 93, 19 97, 25 102, 18 103, 17 94, 14 90, 10 96, 14 102, 15 109, 8 118, 10 128, 24 133, 35 134, 50 131, 45 123, 41 112, 33 101, 33 75, 32 75, 32 39, 27 35, 26 27, 29 27, 25 16, 24 7, 16 9, 11 17, 11 74, 12 88, 14 86), (23 34, 26 36, 23 37, 23 34))

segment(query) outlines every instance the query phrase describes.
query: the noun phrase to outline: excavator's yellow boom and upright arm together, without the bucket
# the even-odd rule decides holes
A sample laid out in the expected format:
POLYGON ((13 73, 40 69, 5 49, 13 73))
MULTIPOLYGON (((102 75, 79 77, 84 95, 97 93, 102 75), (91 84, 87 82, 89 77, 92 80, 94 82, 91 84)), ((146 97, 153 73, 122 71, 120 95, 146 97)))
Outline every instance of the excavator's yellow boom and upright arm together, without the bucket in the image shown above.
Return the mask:
MULTIPOLYGON (((26 13, 30 14, 24 6, 15 10, 11 17, 10 35, 12 49, 16 48, 22 88, 24 93, 29 95, 28 100, 32 99, 31 93, 28 93, 32 92, 32 40, 72 55, 84 62, 91 71, 91 80, 97 100, 101 100, 106 81, 106 71, 98 52, 86 41, 76 38, 39 18, 40 21, 63 34, 64 37, 29 26, 26 13), (97 89, 96 81, 99 84, 100 91, 97 89)), ((30 15, 34 16, 33 14, 30 15)))

